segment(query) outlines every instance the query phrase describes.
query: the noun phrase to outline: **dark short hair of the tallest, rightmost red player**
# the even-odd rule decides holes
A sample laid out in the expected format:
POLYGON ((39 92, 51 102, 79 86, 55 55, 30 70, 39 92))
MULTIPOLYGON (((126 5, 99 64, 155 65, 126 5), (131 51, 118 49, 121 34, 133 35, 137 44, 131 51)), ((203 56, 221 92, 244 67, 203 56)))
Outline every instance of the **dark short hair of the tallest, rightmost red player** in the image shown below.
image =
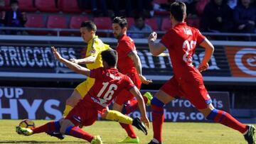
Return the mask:
POLYGON ((176 21, 183 21, 185 19, 184 14, 186 14, 186 5, 181 1, 176 1, 171 4, 170 12, 176 21))

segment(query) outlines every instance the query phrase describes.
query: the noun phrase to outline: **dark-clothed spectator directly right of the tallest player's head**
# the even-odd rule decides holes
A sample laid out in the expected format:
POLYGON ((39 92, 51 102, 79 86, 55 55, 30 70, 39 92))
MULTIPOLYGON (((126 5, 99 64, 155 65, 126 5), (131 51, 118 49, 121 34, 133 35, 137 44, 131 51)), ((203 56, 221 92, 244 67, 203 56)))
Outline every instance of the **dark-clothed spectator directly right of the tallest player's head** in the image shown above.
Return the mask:
POLYGON ((223 0, 211 0, 206 5, 201 19, 204 32, 231 32, 233 28, 233 11, 223 0))

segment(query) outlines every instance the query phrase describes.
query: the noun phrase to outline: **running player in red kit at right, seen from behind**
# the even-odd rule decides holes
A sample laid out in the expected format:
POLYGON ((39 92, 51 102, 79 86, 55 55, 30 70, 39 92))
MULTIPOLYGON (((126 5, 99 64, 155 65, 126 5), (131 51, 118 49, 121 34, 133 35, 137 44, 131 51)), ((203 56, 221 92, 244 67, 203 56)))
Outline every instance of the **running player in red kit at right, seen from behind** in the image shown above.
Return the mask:
POLYGON ((198 29, 186 25, 184 22, 186 5, 183 2, 177 1, 171 4, 170 13, 173 28, 161 38, 159 43, 155 42, 157 38, 155 32, 148 38, 152 55, 160 55, 164 50, 169 50, 174 69, 174 77, 169 79, 151 100, 154 138, 149 144, 162 143, 163 106, 178 96, 186 97, 208 120, 240 131, 249 144, 255 144, 254 126, 240 123, 229 113, 215 109, 211 104, 201 72, 208 69, 208 61, 213 55, 213 45, 198 29), (205 48, 206 52, 201 64, 196 68, 193 66, 192 57, 198 45, 205 48))

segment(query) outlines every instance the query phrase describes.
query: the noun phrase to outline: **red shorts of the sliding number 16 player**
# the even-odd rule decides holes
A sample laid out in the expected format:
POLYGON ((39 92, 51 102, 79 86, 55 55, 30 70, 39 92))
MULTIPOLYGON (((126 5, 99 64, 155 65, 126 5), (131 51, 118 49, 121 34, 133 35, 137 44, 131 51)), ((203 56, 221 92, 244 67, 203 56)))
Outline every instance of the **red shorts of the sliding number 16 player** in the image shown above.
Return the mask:
POLYGON ((80 101, 69 113, 65 119, 70 120, 75 126, 82 123, 83 126, 91 126, 97 121, 97 109, 92 106, 86 106, 80 101))

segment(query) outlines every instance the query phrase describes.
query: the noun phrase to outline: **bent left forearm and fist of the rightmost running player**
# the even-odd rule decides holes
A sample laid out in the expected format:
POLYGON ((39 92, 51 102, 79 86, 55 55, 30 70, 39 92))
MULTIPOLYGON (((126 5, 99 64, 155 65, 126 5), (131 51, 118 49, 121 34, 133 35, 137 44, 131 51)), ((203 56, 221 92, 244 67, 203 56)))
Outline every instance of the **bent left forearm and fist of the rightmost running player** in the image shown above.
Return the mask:
POLYGON ((151 54, 154 56, 160 55, 161 52, 164 52, 164 50, 166 49, 163 44, 155 43, 156 38, 157 38, 156 32, 150 33, 148 38, 149 50, 151 54))

